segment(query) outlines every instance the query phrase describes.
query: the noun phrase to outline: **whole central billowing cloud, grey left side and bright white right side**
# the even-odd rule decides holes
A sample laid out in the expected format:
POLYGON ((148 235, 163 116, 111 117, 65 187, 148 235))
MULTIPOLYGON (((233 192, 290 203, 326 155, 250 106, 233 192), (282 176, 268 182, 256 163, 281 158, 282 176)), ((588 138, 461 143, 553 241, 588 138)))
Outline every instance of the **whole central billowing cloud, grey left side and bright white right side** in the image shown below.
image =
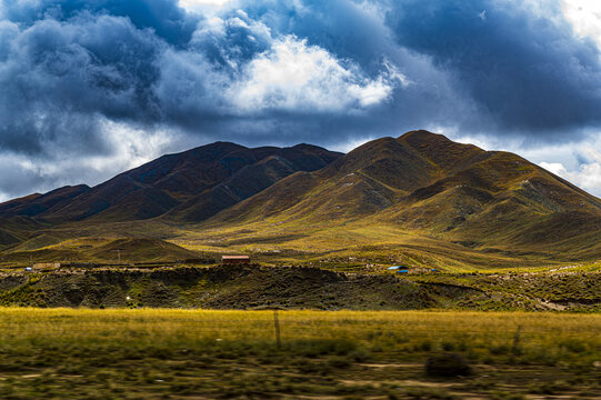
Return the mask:
POLYGON ((357 114, 390 100, 397 87, 412 84, 388 59, 380 73, 368 77, 352 60, 307 40, 274 37, 243 11, 202 21, 189 51, 167 50, 159 63, 161 79, 154 92, 174 114, 260 117, 271 110, 357 114), (240 31, 246 41, 239 40, 240 31))

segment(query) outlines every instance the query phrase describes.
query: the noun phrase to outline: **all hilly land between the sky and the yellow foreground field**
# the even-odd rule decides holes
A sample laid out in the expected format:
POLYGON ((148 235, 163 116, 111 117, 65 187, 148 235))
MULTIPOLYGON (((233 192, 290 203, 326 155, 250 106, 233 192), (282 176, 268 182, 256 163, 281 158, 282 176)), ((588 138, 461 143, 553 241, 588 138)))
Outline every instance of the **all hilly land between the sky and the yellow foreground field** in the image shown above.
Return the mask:
POLYGON ((146 293, 139 304, 152 307, 595 310, 601 303, 601 199, 517 154, 428 131, 377 139, 347 154, 217 142, 93 188, 4 202, 0 221, 3 304, 134 304, 111 300, 124 288, 138 288, 146 293), (199 278, 222 254, 238 253, 254 266, 241 277, 220 267, 221 278, 199 278), (22 273, 50 262, 62 268, 33 271, 41 276, 33 283, 22 273), (269 272, 290 266, 302 268, 269 272), (390 266, 435 273, 401 278, 390 266), (315 282, 325 272, 340 280, 325 291, 342 294, 322 298, 315 282), (124 283, 108 283, 106 273, 124 283), (196 283, 181 273, 198 276, 196 283), (220 297, 223 274, 232 279, 220 297), (344 282, 378 294, 360 302, 337 289, 344 282), (290 286, 300 290, 292 302, 290 286), (387 301, 393 290, 420 294, 387 301), (231 298, 237 291, 247 298, 231 298))

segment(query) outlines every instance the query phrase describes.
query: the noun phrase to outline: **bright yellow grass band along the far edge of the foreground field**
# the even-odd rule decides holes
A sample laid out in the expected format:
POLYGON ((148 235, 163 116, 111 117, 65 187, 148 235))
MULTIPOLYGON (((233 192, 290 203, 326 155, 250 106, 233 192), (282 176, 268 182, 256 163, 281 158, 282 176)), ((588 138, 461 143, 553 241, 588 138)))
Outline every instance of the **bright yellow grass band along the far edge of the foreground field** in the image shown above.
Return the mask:
MULTIPOLYGON (((520 327, 520 346, 561 352, 565 342, 585 349, 601 346, 601 314, 550 312, 453 311, 279 311, 284 341, 332 339, 361 346, 408 349, 454 343, 472 350, 512 343, 520 327)), ((6 340, 169 342, 188 340, 273 340, 272 311, 0 309, 6 340)), ((559 353, 558 353, 559 354, 559 353)), ((568 356, 567 352, 563 356, 568 356)), ((580 354, 583 356, 583 354, 580 354)))

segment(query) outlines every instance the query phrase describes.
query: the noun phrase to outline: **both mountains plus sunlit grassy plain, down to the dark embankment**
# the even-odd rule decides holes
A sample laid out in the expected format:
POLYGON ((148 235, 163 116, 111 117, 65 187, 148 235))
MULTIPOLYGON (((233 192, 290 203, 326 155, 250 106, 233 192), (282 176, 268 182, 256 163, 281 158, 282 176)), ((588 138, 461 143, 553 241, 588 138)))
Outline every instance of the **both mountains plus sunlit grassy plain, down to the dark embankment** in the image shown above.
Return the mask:
MULTIPOLYGON (((167 240, 196 257, 249 252, 270 264, 523 270, 599 260, 601 200, 519 156, 413 131, 345 156, 220 142, 91 189, 0 204, 6 267, 107 261, 114 252, 103 247, 122 238, 167 240)), ((143 260, 143 249, 122 256, 143 260)))

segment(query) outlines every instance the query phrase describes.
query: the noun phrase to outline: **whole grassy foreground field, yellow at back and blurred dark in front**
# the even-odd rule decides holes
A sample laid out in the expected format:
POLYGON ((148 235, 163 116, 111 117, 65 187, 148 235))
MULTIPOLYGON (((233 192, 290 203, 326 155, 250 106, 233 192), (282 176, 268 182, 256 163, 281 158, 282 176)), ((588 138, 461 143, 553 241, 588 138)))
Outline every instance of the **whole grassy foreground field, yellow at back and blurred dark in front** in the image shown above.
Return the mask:
POLYGON ((601 396, 601 314, 0 309, 0 398, 601 396), (424 361, 457 352, 472 377, 424 361))

